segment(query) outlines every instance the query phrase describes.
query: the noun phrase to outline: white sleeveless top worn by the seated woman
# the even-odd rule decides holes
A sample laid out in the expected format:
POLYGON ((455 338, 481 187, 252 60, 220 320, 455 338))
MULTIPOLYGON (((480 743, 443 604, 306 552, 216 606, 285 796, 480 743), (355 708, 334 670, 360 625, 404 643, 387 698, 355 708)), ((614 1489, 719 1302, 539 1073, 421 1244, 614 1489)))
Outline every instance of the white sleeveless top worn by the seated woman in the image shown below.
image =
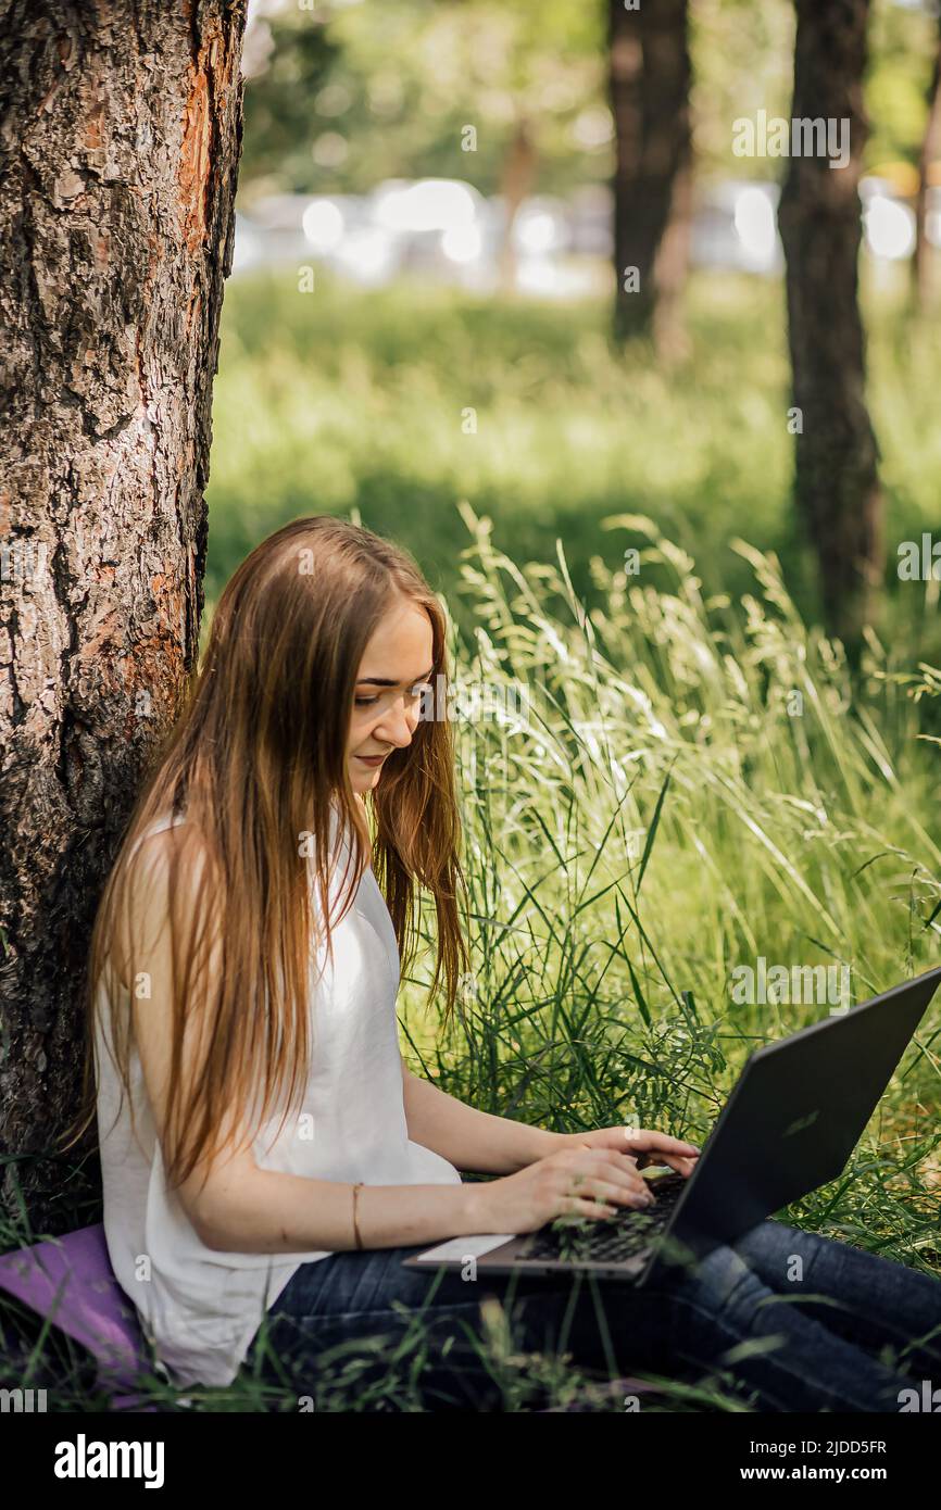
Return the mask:
MULTIPOLYGON (((181 821, 180 815, 174 818, 181 821)), ((169 826, 166 817, 143 837, 169 826)), ((334 812, 332 835, 335 827, 334 812)), ((344 844, 331 874, 331 906, 343 889, 347 853, 344 844)), ((332 965, 326 947, 319 947, 319 980, 311 962, 314 1046, 298 1119, 288 1117, 279 1136, 281 1116, 261 1126, 252 1146, 257 1164, 310 1179, 367 1185, 461 1184, 453 1164, 408 1136, 396 1022, 399 950, 370 867, 349 912, 334 927, 332 941, 332 965)), ((130 994, 121 1009, 130 1012, 130 994)), ((304 1262, 329 1258, 329 1250, 219 1253, 199 1241, 177 1194, 166 1188, 133 1039, 128 1069, 137 1139, 131 1136, 127 1095, 115 1122, 119 1078, 107 1052, 109 1015, 101 988, 95 1018, 97 1101, 112 1267, 171 1383, 228 1385, 292 1274, 304 1262)))

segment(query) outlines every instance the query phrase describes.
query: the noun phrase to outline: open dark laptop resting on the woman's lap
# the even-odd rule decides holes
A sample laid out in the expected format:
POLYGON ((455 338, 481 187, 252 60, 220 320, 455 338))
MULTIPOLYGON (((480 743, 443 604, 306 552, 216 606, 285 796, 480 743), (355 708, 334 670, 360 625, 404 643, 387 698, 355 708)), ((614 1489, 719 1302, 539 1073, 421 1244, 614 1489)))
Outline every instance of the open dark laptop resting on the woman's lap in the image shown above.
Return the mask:
POLYGON ((654 1206, 520 1235, 456 1237, 403 1264, 464 1268, 473 1258, 479 1277, 575 1268, 645 1285, 734 1243, 843 1172, 939 982, 936 966, 751 1054, 693 1173, 643 1170, 654 1206))

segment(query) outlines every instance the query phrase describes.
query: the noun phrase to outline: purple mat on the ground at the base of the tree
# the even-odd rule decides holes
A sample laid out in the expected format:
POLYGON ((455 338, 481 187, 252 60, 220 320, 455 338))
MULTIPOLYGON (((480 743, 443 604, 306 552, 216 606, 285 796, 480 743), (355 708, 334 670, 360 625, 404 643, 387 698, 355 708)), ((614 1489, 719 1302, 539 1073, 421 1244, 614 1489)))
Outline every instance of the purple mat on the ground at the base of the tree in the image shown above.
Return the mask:
MULTIPOLYGON (((148 1367, 137 1312, 115 1279, 101 1223, 0 1255, 0 1290, 82 1342, 98 1361, 101 1386, 128 1389, 148 1367)), ((113 1403, 133 1409, 137 1397, 113 1403)))

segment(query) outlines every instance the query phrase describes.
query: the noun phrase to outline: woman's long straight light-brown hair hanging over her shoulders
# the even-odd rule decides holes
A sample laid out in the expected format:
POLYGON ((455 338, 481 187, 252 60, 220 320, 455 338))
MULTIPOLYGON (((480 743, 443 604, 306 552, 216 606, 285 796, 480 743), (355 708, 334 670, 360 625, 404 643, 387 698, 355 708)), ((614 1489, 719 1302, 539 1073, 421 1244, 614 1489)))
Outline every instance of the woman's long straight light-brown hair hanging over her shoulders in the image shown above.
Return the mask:
MULTIPOLYGON (((134 850, 171 811, 186 812, 186 823, 174 830, 168 876, 172 1049, 163 1146, 171 1185, 211 1158, 233 1104, 252 1102, 258 1123, 276 1104, 287 1116, 307 1083, 311 939, 317 936, 311 879, 331 953, 338 921, 329 909, 331 811, 341 827, 346 818, 352 837, 353 864, 344 871, 338 915, 372 861, 405 974, 418 944, 415 885, 426 888, 438 924, 429 998, 444 978, 446 1015, 453 1012, 468 954, 458 909, 458 889, 465 898, 467 891, 449 720, 421 719, 411 744, 388 755, 367 797, 375 838, 346 766, 359 663, 399 596, 427 612, 432 675, 446 684, 441 606, 414 560, 370 530, 329 516, 296 519, 263 541, 227 584, 183 714, 137 799, 98 908, 86 985, 83 1102, 71 1142, 95 1116, 98 988, 118 978, 113 942, 119 920, 130 918, 134 850), (299 859, 305 834, 313 876, 299 859), (199 891, 205 904, 193 911, 192 888, 177 885, 175 877, 196 858, 195 847, 207 868, 199 891), (210 944, 221 950, 211 991, 210 944), (183 1034, 193 1006, 205 1031, 184 1084, 183 1034)), ((131 939, 125 983, 136 977, 133 947, 131 939)), ((125 985, 107 995, 115 1063, 130 1095, 128 991, 125 985)))

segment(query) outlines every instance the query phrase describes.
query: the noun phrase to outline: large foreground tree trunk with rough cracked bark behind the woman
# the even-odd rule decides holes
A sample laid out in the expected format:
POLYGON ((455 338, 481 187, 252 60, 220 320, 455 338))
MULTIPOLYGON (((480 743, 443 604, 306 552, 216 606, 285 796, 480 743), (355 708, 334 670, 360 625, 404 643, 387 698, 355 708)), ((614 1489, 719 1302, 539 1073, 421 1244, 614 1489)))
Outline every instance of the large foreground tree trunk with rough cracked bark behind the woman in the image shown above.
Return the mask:
POLYGON ((243 27, 0 5, 0 1152, 39 1225, 95 906, 196 657, 243 27))

